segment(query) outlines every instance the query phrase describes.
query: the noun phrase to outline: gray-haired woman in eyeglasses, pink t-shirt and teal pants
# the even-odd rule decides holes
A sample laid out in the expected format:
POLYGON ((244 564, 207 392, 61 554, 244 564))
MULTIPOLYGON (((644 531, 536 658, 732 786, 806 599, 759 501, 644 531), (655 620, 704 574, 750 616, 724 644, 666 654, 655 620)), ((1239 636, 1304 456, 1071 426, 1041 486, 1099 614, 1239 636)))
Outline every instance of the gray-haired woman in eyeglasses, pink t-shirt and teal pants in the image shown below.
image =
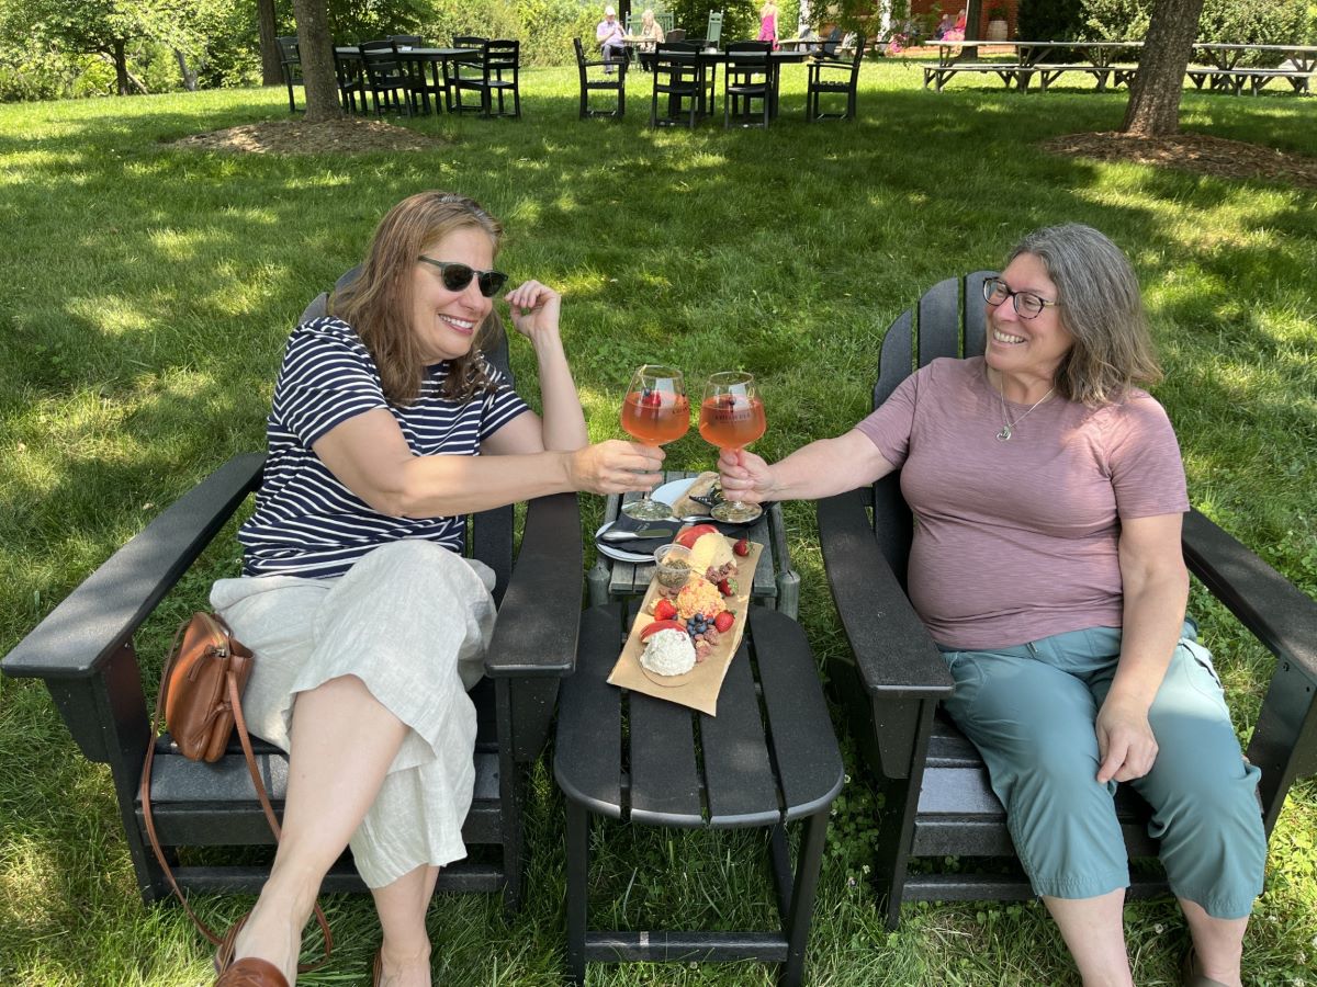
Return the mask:
POLYGON ((986 351, 935 359, 856 428, 772 466, 724 451, 728 497, 823 497, 901 470, 909 594, 955 679, 1017 854, 1084 984, 1130 984, 1113 795, 1152 834, 1192 936, 1184 983, 1239 984, 1262 891, 1259 772, 1185 620, 1179 443, 1138 279, 1080 225, 985 282, 986 351))

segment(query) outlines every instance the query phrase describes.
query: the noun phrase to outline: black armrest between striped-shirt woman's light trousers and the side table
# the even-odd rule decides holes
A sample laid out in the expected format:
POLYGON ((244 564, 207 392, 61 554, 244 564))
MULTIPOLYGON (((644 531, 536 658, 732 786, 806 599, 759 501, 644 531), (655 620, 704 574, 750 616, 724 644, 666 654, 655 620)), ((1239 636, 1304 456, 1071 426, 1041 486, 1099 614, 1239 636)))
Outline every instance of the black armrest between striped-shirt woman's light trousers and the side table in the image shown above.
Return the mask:
POLYGON ((561 678, 573 672, 583 571, 576 494, 529 501, 522 550, 485 658, 486 675, 561 678))

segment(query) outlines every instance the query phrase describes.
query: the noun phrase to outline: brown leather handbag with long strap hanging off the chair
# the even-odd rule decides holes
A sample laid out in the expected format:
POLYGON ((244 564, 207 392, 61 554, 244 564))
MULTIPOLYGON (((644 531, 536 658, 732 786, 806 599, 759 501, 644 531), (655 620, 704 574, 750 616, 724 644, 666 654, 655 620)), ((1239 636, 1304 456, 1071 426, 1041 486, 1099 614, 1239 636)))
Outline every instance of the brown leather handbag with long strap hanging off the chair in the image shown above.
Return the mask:
MULTIPOLYGON (((274 832, 274 838, 279 838, 279 820, 274 815, 274 807, 270 805, 265 784, 261 783, 261 771, 252 751, 252 737, 248 734, 246 720, 242 719, 242 690, 252 678, 254 661, 252 651, 229 633, 228 625, 219 616, 198 612, 191 620, 183 621, 174 634, 174 644, 161 671, 161 692, 155 700, 151 742, 146 746, 146 759, 142 763, 142 817, 146 821, 146 836, 151 842, 151 850, 155 851, 155 861, 192 923, 216 946, 223 942, 221 937, 187 904, 187 898, 174 879, 174 871, 165 859, 159 837, 155 834, 155 820, 151 816, 151 765, 155 761, 155 738, 162 719, 179 753, 190 761, 207 763, 224 757, 233 728, 237 726, 238 742, 242 745, 248 772, 255 786, 261 808, 274 832)), ((319 903, 315 915, 325 937, 325 959, 328 959, 333 949, 333 937, 329 934, 329 923, 319 903)), ((320 965, 299 966, 298 970, 307 973, 320 965)))

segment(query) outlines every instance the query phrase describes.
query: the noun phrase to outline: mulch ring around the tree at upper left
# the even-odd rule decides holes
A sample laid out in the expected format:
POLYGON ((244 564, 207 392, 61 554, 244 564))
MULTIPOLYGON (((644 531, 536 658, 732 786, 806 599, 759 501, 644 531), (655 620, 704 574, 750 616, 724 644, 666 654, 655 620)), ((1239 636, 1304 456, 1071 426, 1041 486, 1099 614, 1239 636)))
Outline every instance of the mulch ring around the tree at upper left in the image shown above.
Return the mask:
POLYGON ((308 124, 304 120, 267 120, 259 124, 230 126, 192 134, 174 141, 174 147, 204 151, 253 154, 361 154, 366 151, 423 151, 441 147, 446 141, 428 137, 382 120, 327 120, 308 124))

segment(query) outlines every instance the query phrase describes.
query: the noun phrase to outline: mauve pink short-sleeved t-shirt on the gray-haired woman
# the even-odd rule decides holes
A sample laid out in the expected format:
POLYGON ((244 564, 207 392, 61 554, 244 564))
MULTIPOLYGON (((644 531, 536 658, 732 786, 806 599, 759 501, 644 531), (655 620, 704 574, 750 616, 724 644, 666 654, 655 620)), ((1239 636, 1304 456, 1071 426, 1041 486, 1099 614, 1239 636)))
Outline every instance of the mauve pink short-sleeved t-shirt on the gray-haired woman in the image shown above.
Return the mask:
POLYGON ((935 359, 856 428, 914 511, 910 600, 934 640, 990 649, 1121 626, 1121 519, 1189 509, 1166 411, 1131 391, 1088 408, 1052 397, 1009 442, 982 357, 935 359))

